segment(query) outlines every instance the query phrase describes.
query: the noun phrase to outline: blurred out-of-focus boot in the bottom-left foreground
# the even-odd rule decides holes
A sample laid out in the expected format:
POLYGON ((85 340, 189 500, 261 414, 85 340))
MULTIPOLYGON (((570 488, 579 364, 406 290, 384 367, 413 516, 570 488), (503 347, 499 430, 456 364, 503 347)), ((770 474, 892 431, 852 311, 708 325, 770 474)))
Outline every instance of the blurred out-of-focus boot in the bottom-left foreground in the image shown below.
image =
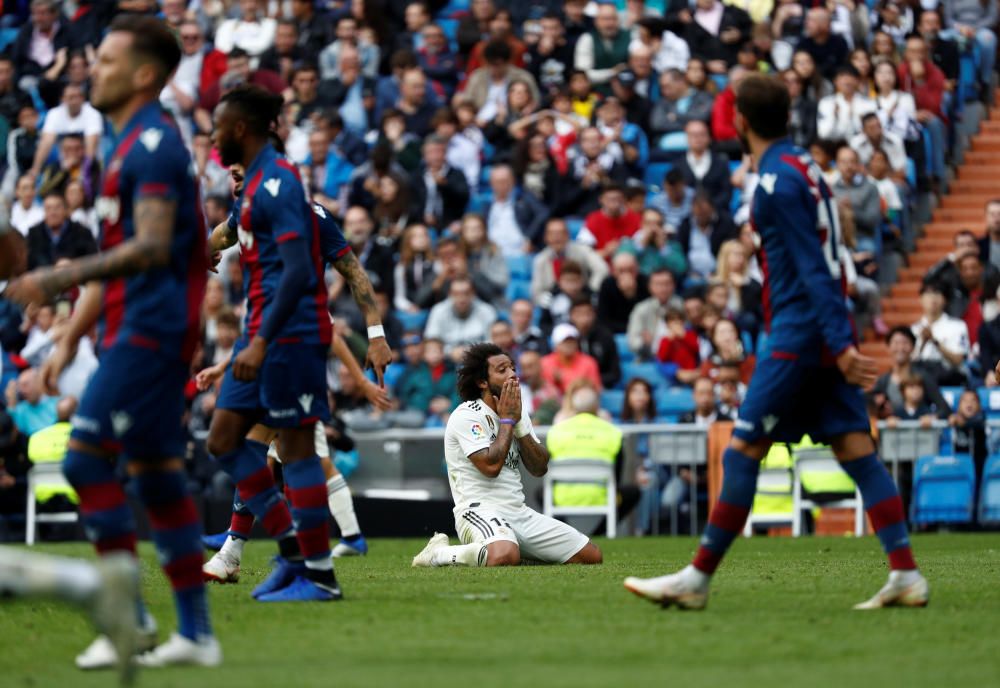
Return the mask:
MULTIPOLYGON (((118 665, 122 683, 132 677, 134 665, 131 657, 139 644, 139 626, 136 604, 139 599, 139 568, 130 554, 111 554, 96 563, 101 585, 94 596, 90 616, 105 635, 104 642, 95 653, 113 658, 118 665), (110 646, 110 652, 105 645, 110 646)), ((155 640, 155 630, 153 632, 155 640)), ((86 653, 85 653, 86 654, 86 653)))

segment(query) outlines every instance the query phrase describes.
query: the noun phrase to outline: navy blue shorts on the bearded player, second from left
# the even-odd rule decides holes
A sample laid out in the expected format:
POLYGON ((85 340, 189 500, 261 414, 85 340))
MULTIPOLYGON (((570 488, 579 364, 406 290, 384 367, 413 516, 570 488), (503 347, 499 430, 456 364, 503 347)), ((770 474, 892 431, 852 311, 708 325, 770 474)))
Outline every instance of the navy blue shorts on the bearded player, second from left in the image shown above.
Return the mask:
MULTIPOLYGON (((245 349, 241 339, 233 358, 245 349)), ((326 397, 326 352, 322 344, 271 344, 257 379, 241 382, 233 367, 222 378, 216 408, 253 417, 271 428, 298 428, 330 420, 326 397)))

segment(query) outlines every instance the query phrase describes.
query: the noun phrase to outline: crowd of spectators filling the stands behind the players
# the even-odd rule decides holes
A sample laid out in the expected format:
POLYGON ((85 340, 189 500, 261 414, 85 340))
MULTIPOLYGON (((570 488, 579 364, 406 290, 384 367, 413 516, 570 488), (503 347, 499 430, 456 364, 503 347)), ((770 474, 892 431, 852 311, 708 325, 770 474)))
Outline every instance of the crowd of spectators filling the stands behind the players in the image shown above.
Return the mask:
MULTIPOLYGON (((788 85, 792 136, 838 201, 859 332, 888 337, 894 364, 873 410, 981 422, 976 395, 952 410, 940 387, 993 384, 1000 201, 931 270, 911 329, 890 332, 880 298, 915 248, 915 209, 947 191, 963 109, 993 102, 997 0, 5 3, 0 193, 29 267, 98 250, 108 137, 88 67, 120 13, 162 16, 177 33, 184 57, 161 102, 211 226, 232 204, 214 106, 243 83, 284 96, 277 134, 339 218, 397 356, 388 412, 331 359, 340 425, 328 432, 345 451, 348 430, 443 426, 462 347, 484 340, 514 354, 539 424, 570 413, 583 387, 620 422, 733 417, 766 339, 749 222, 760 180, 733 126, 734 88, 751 72, 788 85)), ((337 329, 363 361, 364 320, 339 275, 328 281, 337 329)), ((0 299, 2 509, 23 508, 3 495, 23 478, 26 438, 71 415, 96 367, 86 341, 62 402, 38 378, 77 296, 29 312, 0 299)), ((231 355, 243 301, 229 253, 203 304, 196 370, 231 355)), ((214 399, 190 386, 192 438, 214 399)), ((210 488, 203 452, 192 466, 210 488)))

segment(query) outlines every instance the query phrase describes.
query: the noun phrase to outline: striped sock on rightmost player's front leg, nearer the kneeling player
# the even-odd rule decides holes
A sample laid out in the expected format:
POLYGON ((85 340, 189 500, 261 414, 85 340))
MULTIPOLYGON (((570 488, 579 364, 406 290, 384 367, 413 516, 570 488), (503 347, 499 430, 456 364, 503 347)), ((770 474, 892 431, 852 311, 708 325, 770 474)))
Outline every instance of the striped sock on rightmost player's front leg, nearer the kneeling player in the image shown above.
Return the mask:
POLYGON ((760 461, 730 447, 722 456, 722 470, 722 493, 708 517, 698 553, 691 562, 709 576, 715 573, 726 550, 743 530, 757 492, 760 461))

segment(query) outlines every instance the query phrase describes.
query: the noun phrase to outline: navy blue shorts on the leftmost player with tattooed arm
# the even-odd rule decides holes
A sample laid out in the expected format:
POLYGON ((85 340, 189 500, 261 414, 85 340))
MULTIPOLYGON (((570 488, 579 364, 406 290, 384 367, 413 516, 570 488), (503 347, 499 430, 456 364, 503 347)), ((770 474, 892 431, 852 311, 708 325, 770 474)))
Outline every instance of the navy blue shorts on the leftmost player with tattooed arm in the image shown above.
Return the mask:
POLYGON ((130 459, 183 457, 189 364, 135 344, 115 344, 87 385, 71 437, 130 459))

